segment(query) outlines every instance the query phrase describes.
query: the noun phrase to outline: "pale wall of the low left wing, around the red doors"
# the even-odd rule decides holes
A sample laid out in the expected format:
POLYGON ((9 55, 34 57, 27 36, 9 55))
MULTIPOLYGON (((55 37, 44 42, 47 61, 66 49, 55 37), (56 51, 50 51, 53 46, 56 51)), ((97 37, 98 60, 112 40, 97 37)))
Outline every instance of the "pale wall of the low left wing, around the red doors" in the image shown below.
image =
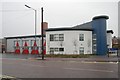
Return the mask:
MULTIPOLYGON (((15 46, 16 46, 17 41, 19 43, 21 53, 23 51, 22 48, 24 47, 25 41, 27 42, 29 52, 31 52, 31 50, 32 50, 31 47, 33 46, 35 38, 7 39, 7 52, 14 52, 15 51, 15 46)), ((41 38, 36 38, 36 43, 37 43, 37 46, 39 47, 39 51, 41 52, 41 50, 40 50, 41 38)))

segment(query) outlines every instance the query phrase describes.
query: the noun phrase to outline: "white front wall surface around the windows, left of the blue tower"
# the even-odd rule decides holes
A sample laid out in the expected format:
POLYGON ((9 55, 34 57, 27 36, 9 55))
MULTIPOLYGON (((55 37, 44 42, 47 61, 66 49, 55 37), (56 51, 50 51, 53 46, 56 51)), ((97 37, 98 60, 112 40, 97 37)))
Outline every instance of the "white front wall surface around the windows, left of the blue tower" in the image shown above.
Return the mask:
POLYGON ((80 54, 80 47, 84 48, 84 54, 92 54, 92 31, 66 30, 46 32, 47 54, 50 54, 50 48, 64 48, 63 52, 58 51, 54 52, 54 54, 80 54), (64 41, 50 41, 50 34, 64 34, 64 41), (84 41, 79 41, 80 34, 84 34, 84 41))

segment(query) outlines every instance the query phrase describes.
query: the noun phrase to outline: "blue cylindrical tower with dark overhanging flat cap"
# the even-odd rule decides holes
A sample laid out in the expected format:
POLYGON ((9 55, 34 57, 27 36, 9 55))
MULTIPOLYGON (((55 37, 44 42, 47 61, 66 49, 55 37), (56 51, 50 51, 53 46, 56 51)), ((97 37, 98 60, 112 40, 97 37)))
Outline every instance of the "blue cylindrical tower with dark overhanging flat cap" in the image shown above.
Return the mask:
POLYGON ((107 37, 106 37, 106 20, 108 16, 96 16, 92 20, 93 34, 96 35, 96 54, 106 55, 107 37))

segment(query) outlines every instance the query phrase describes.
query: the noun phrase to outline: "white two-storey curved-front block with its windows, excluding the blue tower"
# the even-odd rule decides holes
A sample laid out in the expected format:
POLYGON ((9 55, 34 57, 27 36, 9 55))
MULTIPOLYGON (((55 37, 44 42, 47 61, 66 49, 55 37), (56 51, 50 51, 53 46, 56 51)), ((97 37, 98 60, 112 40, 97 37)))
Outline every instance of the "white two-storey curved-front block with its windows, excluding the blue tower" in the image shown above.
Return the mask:
POLYGON ((46 32, 47 54, 92 54, 92 31, 70 28, 46 32))

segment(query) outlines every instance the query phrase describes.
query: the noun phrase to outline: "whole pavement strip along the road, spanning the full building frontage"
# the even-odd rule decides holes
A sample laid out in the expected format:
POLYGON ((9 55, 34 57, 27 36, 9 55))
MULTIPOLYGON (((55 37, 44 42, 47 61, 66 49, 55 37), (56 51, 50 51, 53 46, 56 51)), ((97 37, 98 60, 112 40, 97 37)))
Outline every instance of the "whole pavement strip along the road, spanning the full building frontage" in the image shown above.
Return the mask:
MULTIPOLYGON (((39 55, 14 55, 14 54, 2 54, 2 58, 13 59, 29 59, 29 60, 42 60, 39 55)), ((89 58, 49 58, 45 57, 45 61, 79 61, 79 62, 120 62, 120 57, 117 56, 91 56, 89 58)))

